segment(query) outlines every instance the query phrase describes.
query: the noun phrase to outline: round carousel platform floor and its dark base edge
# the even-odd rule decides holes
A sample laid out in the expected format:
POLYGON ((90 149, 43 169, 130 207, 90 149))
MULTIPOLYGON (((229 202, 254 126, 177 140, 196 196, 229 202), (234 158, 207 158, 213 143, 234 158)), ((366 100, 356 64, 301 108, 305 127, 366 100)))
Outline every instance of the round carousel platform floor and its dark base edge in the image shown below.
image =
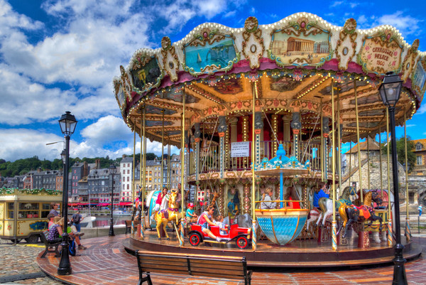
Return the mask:
MULTIPOLYGON (((148 229, 143 240, 130 235, 123 244, 130 254, 138 249, 150 252, 202 254, 205 257, 217 255, 246 257, 249 267, 359 267, 387 264, 394 258, 393 247, 388 247, 386 242, 381 244, 371 242, 371 247, 359 249, 355 239, 353 245, 339 246, 334 251, 331 242, 319 243, 312 239, 295 240, 285 246, 278 246, 268 240, 258 240, 256 252, 253 252, 251 247, 239 249, 234 242, 228 244, 203 242, 194 247, 185 239, 185 244, 180 247, 175 232, 168 232, 168 235, 170 241, 165 238, 158 240, 157 232, 148 229)), ((420 257, 422 249, 418 244, 410 242, 404 246, 405 259, 420 257)))

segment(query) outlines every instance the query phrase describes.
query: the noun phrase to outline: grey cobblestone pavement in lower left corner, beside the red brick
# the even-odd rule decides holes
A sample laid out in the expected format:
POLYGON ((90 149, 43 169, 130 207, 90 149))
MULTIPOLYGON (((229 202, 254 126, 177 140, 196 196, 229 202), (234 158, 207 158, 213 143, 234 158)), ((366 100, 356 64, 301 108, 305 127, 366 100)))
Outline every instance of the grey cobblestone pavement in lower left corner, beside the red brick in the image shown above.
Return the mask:
MULTIPOLYGON (((35 262, 35 258, 43 251, 44 245, 41 243, 27 245, 26 242, 15 245, 9 240, 0 240, 0 279, 6 276, 43 273, 35 262)), ((45 276, 1 284, 58 285, 63 283, 45 276)))

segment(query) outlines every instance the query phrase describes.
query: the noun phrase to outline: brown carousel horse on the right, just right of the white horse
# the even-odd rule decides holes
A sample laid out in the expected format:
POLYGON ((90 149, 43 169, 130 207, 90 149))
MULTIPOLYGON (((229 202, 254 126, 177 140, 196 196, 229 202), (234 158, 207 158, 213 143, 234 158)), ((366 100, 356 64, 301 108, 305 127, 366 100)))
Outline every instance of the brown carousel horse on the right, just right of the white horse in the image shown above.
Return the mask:
POLYGON ((376 202, 378 205, 381 203, 380 195, 377 192, 369 191, 364 195, 364 204, 360 207, 355 205, 346 205, 342 204, 339 207, 339 215, 342 219, 342 225, 340 225, 339 230, 337 231, 337 235, 339 235, 340 230, 344 227, 344 234, 342 237, 346 237, 346 232, 353 222, 364 222, 369 220, 371 225, 374 221, 378 220, 380 222, 379 231, 382 227, 382 218, 377 216, 374 213, 374 208, 371 206, 371 201, 376 202))

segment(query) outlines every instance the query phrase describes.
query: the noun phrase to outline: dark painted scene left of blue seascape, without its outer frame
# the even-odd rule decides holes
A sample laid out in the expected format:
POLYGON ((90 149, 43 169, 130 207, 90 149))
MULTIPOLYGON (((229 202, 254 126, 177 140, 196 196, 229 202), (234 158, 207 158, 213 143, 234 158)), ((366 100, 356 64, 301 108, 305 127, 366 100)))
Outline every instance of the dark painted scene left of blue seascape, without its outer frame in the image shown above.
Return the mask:
POLYGON ((162 76, 160 66, 156 58, 148 58, 141 64, 133 65, 131 70, 133 86, 139 92, 145 92, 160 83, 162 76))

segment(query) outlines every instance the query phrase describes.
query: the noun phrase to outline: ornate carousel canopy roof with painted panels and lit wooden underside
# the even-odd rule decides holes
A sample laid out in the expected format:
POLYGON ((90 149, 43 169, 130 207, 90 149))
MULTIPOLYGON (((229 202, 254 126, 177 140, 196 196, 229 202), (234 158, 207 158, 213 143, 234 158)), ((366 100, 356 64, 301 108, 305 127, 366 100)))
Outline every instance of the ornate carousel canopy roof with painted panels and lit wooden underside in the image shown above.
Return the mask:
POLYGON ((392 26, 358 30, 353 18, 339 27, 307 13, 263 26, 249 17, 244 28, 203 23, 177 43, 164 37, 161 48, 136 50, 129 65, 120 66, 114 90, 131 129, 141 133, 145 112, 146 136, 160 141, 164 131, 165 143, 176 146, 184 96, 185 126, 200 122, 207 134, 217 131, 219 115, 251 114, 253 95, 256 110, 265 114, 290 118, 300 112, 302 134, 309 134, 321 114, 332 117, 334 94, 342 139, 349 141, 356 137, 356 103, 361 137, 386 129, 378 94, 386 72, 403 80, 397 124, 420 107, 426 53, 418 45, 406 43, 392 26))

